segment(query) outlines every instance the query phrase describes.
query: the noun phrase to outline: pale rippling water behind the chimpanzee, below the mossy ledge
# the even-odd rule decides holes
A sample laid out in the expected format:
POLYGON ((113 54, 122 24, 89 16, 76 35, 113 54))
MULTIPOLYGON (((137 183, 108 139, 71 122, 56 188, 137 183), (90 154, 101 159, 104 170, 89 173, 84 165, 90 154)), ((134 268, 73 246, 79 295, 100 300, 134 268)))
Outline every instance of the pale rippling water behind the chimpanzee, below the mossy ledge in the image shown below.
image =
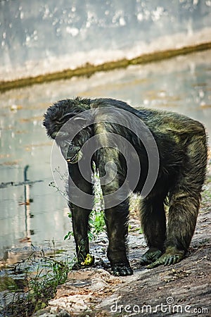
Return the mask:
MULTIPOLYGON (((0 188, 0 258, 11 248, 42 247, 52 239, 64 244, 70 230, 66 201, 49 187, 51 146, 42 127, 43 113, 53 101, 113 97, 139 107, 167 109, 203 122, 211 134, 211 54, 201 52, 127 70, 96 73, 0 95, 0 184, 22 182, 23 170, 34 182, 28 187, 0 188)), ((68 246, 72 247, 72 243, 68 246)), ((8 252, 7 252, 8 254, 8 252)))

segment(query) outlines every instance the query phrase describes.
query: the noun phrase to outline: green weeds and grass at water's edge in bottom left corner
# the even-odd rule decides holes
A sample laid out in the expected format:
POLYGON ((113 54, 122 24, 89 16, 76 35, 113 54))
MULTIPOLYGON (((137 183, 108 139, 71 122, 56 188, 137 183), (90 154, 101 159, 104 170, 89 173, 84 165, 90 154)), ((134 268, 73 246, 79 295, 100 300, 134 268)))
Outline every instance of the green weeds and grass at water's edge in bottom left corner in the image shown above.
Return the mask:
POLYGON ((67 280, 72 261, 57 261, 45 256, 44 252, 40 256, 32 254, 24 261, 25 288, 14 292, 13 300, 1 307, 4 316, 32 316, 35 311, 44 309, 55 296, 56 287, 67 280), (36 271, 32 271, 32 266, 37 267, 36 271))

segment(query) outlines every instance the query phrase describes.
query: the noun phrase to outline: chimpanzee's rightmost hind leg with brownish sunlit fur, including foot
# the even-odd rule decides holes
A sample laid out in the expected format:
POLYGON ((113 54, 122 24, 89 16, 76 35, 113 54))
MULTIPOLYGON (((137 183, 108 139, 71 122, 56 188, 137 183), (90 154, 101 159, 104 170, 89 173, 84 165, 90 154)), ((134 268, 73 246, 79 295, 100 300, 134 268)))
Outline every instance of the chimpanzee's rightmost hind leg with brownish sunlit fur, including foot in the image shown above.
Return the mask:
POLYGON ((177 184, 170 192, 170 210, 165 254, 148 266, 170 265, 181 261, 188 250, 196 226, 200 192, 205 180, 207 144, 205 134, 193 135, 186 148, 177 184))

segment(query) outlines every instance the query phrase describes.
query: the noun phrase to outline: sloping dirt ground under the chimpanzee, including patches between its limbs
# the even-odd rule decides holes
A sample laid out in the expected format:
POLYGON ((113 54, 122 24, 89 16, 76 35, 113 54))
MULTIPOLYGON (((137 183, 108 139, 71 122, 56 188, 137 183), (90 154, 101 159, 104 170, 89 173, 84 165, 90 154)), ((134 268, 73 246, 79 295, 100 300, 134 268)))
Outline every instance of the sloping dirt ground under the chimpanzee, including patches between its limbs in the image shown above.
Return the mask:
MULTIPOLYGON (((211 173, 208 180, 210 177, 211 173)), ((196 232, 183 261, 151 270, 141 267, 139 259, 146 244, 136 230, 139 220, 133 218, 129 259, 134 275, 114 277, 109 268, 103 268, 99 259, 106 259, 106 241, 101 237, 92 246, 99 256, 96 266, 70 272, 68 281, 58 287, 55 299, 34 316, 211 316, 211 181, 204 189, 196 232)))

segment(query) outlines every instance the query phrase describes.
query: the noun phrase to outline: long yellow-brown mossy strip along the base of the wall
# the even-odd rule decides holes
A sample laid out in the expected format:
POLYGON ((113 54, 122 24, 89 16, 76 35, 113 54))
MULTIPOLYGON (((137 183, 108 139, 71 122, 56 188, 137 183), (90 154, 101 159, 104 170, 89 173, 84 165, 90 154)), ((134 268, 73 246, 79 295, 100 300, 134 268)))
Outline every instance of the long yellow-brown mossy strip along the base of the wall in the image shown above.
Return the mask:
POLYGON ((30 86, 34 84, 41 84, 42 82, 52 82, 54 80, 62 80, 68 79, 75 76, 87 76, 90 77, 94 73, 98 71, 109 71, 114 70, 115 68, 127 68, 129 65, 139 65, 145 63, 151 63, 156 61, 162 61, 167 58, 172 58, 178 55, 186 55, 191 54, 196 51, 204 51, 207 49, 211 49, 211 42, 207 42, 204 44, 198 44, 194 46, 186 46, 181 49, 170 49, 167 51, 155 51, 150 54, 143 54, 136 58, 126 59, 123 58, 118 61, 110 61, 107 63, 103 63, 101 65, 92 65, 90 63, 86 63, 84 66, 79 67, 75 70, 67 69, 56 73, 49 73, 45 75, 39 75, 36 77, 27 77, 18 80, 11 81, 1 81, 0 82, 0 92, 5 92, 9 89, 15 89, 25 86, 30 86))

